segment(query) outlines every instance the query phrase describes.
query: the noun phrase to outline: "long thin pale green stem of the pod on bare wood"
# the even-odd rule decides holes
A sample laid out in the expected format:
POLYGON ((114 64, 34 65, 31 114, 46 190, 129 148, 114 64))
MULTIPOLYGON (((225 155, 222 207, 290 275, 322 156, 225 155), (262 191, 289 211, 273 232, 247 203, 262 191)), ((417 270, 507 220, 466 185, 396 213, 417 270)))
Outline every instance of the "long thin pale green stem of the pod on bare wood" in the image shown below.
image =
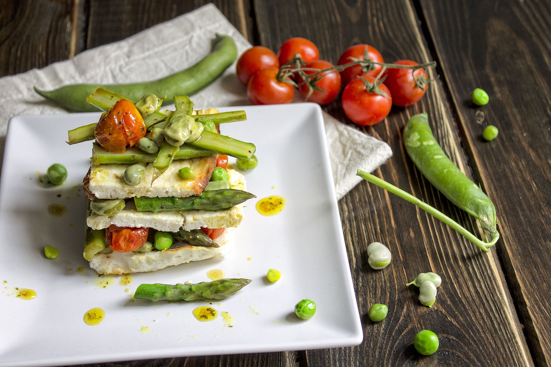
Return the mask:
POLYGON ((358 169, 358 172, 356 173, 359 177, 365 179, 368 182, 371 182, 372 184, 375 184, 379 186, 380 188, 383 188, 387 191, 390 191, 392 194, 398 195, 402 199, 406 199, 407 201, 411 202, 412 204, 417 205, 420 209, 423 209, 430 215, 434 216, 437 220, 440 220, 453 228, 457 233, 461 234, 463 237, 468 239, 470 242, 472 242, 474 245, 476 245, 480 250, 483 250, 485 252, 489 251, 489 248, 495 245, 496 242, 498 242, 499 239, 499 233, 495 232, 495 235, 492 234, 491 242, 484 242, 476 237, 476 235, 472 234, 471 232, 467 231, 464 227, 461 226, 461 224, 457 223, 456 221, 452 220, 449 216, 445 215, 441 211, 435 209, 434 207, 430 206, 429 204, 426 204, 426 202, 421 201, 415 196, 408 194, 406 191, 397 188, 395 185, 392 185, 385 180, 380 179, 379 177, 373 176, 372 174, 361 171, 361 169, 358 169))

